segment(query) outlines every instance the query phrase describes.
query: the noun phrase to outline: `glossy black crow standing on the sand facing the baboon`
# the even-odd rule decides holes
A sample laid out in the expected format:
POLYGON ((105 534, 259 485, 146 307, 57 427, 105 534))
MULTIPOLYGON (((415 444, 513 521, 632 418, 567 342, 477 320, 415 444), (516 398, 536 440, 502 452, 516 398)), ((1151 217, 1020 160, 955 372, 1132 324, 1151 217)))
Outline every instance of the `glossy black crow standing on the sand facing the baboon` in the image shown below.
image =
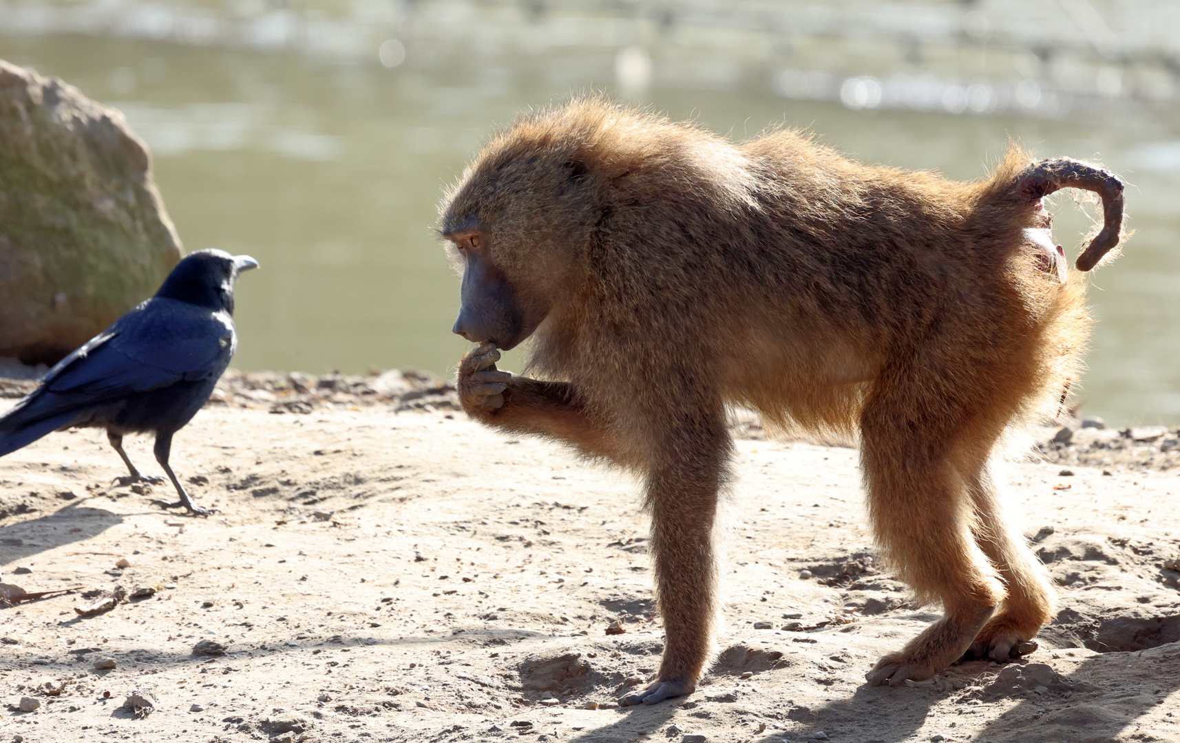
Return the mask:
POLYGON ((129 478, 145 478, 123 451, 129 433, 156 434, 156 461, 181 495, 165 508, 212 513, 192 504, 168 466, 172 434, 209 400, 237 348, 234 331, 234 280, 257 268, 250 256, 198 250, 176 264, 156 296, 131 309, 106 330, 58 362, 28 394, 0 417, 0 456, 52 430, 106 428, 129 478))

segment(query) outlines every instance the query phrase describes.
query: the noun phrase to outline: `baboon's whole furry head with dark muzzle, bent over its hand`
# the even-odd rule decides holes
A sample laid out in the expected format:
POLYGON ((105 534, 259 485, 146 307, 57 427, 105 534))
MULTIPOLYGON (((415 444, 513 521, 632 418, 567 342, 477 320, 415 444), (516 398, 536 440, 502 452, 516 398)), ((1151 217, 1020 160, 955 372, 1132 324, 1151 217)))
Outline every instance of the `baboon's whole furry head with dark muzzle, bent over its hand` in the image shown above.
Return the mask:
POLYGON ((440 231, 463 267, 454 333, 510 349, 583 285, 586 254, 611 177, 602 162, 601 104, 572 104, 496 136, 440 206, 440 231))

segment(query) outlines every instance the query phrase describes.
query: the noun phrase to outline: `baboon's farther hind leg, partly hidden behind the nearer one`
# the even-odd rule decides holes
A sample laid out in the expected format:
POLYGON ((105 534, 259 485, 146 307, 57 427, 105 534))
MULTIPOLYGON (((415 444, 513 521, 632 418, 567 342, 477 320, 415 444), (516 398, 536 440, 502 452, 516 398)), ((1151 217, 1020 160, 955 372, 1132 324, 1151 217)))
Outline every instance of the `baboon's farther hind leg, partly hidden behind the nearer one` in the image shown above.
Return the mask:
POLYGON ((976 543, 1008 589, 1002 609, 975 638, 968 656, 1005 663, 1036 650, 1030 640, 1053 618, 1053 586, 1041 561, 1005 513, 991 473, 983 468, 966 480, 977 519, 976 543))

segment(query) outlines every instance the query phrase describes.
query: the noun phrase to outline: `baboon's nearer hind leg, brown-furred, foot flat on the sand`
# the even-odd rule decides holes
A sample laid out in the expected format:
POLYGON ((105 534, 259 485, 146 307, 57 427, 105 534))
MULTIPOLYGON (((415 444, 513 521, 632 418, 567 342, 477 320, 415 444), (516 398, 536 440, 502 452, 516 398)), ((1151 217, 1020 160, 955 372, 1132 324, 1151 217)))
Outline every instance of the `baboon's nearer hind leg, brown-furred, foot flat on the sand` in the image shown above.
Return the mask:
POLYGON ((958 660, 1003 599, 1003 586, 971 533, 972 505, 953 466, 955 400, 929 380, 878 389, 861 416, 861 458, 878 541, 900 577, 945 616, 865 675, 899 686, 958 660))

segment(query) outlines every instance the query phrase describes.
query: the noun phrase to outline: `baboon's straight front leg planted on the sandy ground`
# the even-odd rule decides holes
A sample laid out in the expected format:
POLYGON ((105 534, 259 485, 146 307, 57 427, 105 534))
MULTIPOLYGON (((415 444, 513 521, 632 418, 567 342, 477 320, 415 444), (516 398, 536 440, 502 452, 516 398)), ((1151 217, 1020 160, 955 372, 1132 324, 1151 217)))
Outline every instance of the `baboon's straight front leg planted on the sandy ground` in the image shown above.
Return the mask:
POLYGON ((684 443, 689 446, 671 447, 670 461, 648 476, 651 551, 666 642, 656 680, 620 699, 624 706, 693 693, 713 652, 713 532, 729 442, 722 429, 720 435, 697 430, 684 443))

